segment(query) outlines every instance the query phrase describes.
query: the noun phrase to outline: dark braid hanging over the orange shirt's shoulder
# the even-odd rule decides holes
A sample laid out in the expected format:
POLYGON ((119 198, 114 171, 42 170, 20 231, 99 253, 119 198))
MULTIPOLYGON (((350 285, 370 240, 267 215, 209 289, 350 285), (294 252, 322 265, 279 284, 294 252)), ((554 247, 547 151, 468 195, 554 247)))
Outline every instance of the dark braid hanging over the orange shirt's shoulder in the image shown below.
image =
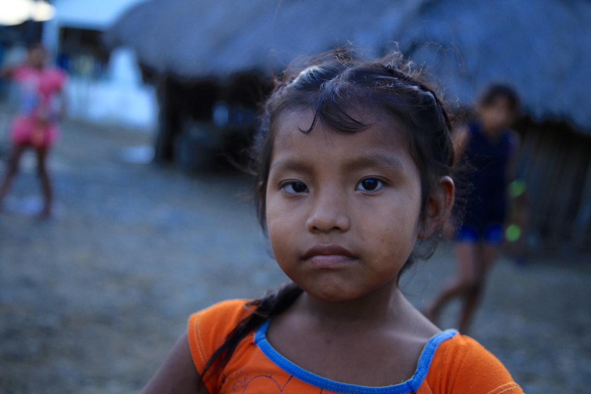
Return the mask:
POLYGON ((260 327, 270 318, 277 317, 287 310, 298 297, 302 289, 300 286, 291 282, 274 292, 268 292, 265 297, 255 299, 245 305, 245 308, 251 311, 247 317, 243 318, 238 325, 228 334, 226 341, 222 346, 213 352, 203 369, 202 379, 207 380, 214 376, 219 370, 228 363, 236 347, 249 333, 260 327), (255 307, 254 309, 249 307, 255 307), (212 372, 208 371, 213 367, 212 372))

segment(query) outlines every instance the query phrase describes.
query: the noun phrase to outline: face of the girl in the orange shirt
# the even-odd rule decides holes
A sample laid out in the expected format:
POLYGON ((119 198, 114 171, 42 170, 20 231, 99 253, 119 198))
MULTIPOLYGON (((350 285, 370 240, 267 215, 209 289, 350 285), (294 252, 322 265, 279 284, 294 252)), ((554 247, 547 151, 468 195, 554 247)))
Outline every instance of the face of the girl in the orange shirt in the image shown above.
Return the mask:
MULTIPOLYGON (((281 269, 313 297, 346 301, 395 286, 420 233, 421 181, 386 116, 356 133, 309 133, 311 110, 278 120, 267 226, 281 269)), ((369 121, 369 122, 368 122, 369 121)))

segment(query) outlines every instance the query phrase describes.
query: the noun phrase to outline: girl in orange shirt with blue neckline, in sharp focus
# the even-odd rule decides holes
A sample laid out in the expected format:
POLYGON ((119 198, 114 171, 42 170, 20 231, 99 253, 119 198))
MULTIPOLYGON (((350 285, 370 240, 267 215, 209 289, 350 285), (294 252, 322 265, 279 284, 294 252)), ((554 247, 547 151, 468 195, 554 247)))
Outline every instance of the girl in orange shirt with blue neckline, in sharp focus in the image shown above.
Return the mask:
POLYGON ((398 288, 454 200, 447 114, 394 55, 287 72, 255 143, 258 208, 292 283, 189 318, 142 393, 521 393, 398 288))

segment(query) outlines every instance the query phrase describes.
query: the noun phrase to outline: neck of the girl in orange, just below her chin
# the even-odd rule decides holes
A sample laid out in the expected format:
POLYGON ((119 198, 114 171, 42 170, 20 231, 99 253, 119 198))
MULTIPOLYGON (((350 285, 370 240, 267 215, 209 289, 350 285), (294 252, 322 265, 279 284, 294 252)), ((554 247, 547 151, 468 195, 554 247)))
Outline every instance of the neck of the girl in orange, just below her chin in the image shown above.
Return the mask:
POLYGON ((382 324, 397 314, 404 303, 395 282, 363 297, 348 301, 324 301, 304 292, 298 299, 300 311, 320 324, 332 325, 372 325, 382 324))

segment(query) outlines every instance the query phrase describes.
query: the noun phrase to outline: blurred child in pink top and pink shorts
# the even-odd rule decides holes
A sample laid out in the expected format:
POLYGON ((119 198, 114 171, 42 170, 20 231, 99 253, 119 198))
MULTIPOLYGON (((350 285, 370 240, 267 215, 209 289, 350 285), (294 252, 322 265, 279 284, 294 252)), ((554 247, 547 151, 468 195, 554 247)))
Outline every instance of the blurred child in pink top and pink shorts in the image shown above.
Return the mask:
POLYGON ((43 45, 30 45, 27 61, 15 69, 5 69, 2 77, 11 77, 20 88, 20 106, 12 122, 12 153, 0 184, 0 204, 17 175, 18 165, 25 149, 33 148, 37 154, 37 173, 43 192, 40 216, 51 214, 53 194, 47 173, 47 152, 58 135, 57 121, 63 115, 63 100, 59 100, 65 80, 63 71, 46 66, 47 54, 43 45))

